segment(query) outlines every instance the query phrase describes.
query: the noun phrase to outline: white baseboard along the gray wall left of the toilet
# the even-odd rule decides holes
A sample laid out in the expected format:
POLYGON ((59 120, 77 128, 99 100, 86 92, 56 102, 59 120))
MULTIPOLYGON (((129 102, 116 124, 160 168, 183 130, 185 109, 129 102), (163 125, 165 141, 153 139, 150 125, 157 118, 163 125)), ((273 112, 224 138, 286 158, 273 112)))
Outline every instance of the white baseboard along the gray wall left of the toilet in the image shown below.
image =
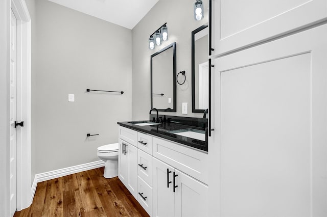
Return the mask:
POLYGON ((98 160, 98 161, 94 161, 94 162, 89 162, 87 164, 81 164, 81 165, 77 165, 77 166, 73 166, 73 167, 67 167, 67 168, 63 168, 63 169, 59 169, 59 170, 53 170, 53 171, 49 171, 49 172, 45 172, 45 173, 36 174, 34 177, 33 184, 32 184, 32 194, 31 194, 32 199, 31 199, 31 201, 33 201, 37 183, 42 182, 42 181, 47 181, 50 179, 59 178, 62 176, 71 175, 74 173, 83 172, 86 170, 92 170, 92 169, 104 167, 104 164, 105 164, 105 162, 103 160, 98 160))

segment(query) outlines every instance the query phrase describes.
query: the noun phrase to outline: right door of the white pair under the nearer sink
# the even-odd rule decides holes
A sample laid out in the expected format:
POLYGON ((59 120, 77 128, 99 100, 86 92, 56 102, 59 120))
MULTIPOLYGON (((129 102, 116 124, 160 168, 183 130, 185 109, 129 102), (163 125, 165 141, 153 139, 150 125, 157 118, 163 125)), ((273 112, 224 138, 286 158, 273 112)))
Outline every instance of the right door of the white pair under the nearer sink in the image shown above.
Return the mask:
POLYGON ((208 216, 207 185, 175 169, 176 185, 175 217, 208 216))

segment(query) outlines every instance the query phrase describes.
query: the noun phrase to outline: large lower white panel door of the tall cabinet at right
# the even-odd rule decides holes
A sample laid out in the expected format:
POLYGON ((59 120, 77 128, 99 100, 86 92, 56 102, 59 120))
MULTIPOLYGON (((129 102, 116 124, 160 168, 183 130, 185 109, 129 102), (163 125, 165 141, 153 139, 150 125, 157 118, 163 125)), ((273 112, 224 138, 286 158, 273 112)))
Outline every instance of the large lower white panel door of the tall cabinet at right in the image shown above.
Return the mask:
POLYGON ((325 24, 215 61, 209 216, 327 216, 326 38, 325 24))

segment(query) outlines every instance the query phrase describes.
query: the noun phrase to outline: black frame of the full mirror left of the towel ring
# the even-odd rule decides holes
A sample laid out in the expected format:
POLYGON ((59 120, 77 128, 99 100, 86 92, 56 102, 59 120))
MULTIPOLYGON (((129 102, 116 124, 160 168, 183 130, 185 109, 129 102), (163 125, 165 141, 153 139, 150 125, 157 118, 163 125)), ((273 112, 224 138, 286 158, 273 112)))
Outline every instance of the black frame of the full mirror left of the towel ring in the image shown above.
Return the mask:
POLYGON ((151 55, 151 108, 153 108, 153 99, 152 99, 152 58, 159 55, 161 52, 164 52, 165 50, 169 49, 173 47, 173 108, 172 109, 168 109, 168 108, 157 108, 158 112, 176 112, 176 42, 173 42, 172 44, 168 45, 165 48, 162 48, 161 50, 153 53, 153 55, 151 55))

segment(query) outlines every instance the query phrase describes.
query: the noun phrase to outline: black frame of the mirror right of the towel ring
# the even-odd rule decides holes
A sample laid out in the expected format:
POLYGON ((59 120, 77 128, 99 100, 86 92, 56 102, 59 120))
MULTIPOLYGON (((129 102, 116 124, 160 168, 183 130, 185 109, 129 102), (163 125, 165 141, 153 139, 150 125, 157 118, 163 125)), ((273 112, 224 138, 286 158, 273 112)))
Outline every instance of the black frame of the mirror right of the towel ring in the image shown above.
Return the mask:
POLYGON ((195 108, 195 34, 207 28, 208 25, 201 25, 196 30, 192 31, 192 112, 193 113, 204 113, 204 109, 195 108))

